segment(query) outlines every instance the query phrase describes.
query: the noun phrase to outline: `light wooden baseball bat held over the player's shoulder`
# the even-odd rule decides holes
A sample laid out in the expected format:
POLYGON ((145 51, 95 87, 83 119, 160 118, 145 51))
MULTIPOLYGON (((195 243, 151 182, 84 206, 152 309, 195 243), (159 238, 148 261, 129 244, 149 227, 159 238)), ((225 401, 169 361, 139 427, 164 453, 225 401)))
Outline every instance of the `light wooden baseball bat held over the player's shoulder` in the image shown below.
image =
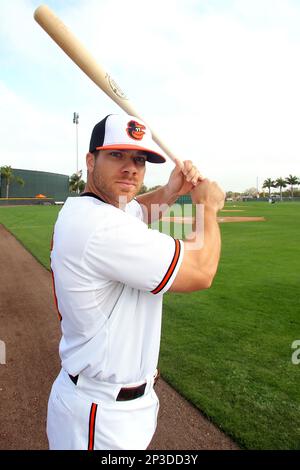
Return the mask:
MULTIPOLYGON (((81 68, 81 70, 93 80, 104 93, 106 93, 127 114, 143 119, 123 91, 119 88, 113 78, 104 70, 94 57, 89 53, 76 36, 66 25, 53 13, 47 5, 39 6, 34 12, 34 19, 51 36, 58 46, 70 57, 70 59, 81 68)), ((176 164, 183 167, 181 160, 166 146, 166 144, 152 130, 153 140, 176 164)))

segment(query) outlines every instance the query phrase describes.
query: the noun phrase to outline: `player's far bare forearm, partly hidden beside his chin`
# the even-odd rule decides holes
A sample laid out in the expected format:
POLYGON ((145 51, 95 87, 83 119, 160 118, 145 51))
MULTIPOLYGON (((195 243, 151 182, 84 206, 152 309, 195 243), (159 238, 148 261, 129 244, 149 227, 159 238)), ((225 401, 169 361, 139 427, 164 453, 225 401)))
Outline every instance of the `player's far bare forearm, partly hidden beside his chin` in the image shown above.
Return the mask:
POLYGON ((140 194, 136 200, 142 206, 145 222, 151 223, 166 212, 177 198, 178 194, 172 193, 168 185, 165 185, 149 193, 140 194))

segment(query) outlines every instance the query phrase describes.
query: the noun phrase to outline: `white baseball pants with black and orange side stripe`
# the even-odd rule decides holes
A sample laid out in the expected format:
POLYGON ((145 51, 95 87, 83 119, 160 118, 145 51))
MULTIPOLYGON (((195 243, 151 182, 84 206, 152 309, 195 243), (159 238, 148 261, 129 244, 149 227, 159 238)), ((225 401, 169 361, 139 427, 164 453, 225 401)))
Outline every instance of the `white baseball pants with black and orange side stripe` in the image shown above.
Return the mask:
POLYGON ((153 376, 146 381, 143 396, 116 401, 120 385, 99 384, 83 376, 75 385, 62 369, 48 402, 50 450, 146 449, 156 429, 159 409, 153 376))

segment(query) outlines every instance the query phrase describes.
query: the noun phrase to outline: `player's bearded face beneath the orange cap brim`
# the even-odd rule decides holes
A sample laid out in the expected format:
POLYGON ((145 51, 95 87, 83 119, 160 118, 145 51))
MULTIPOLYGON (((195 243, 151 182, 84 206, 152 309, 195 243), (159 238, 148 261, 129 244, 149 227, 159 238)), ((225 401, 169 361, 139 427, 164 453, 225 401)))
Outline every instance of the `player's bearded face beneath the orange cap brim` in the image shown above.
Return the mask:
MULTIPOLYGON (((88 154, 91 155, 91 154, 88 154)), ((100 150, 88 159, 89 187, 105 201, 119 206, 120 197, 130 202, 139 192, 146 170, 140 150, 100 150)))

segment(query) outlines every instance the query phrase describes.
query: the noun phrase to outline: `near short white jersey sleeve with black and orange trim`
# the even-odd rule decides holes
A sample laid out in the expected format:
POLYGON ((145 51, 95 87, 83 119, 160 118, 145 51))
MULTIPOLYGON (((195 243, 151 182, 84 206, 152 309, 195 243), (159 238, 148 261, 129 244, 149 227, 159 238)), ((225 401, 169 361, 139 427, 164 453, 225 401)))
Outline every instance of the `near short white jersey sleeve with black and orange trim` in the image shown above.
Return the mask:
POLYGON ((102 279, 163 294, 172 285, 183 259, 184 245, 141 220, 122 213, 101 224, 84 252, 88 269, 102 279))

